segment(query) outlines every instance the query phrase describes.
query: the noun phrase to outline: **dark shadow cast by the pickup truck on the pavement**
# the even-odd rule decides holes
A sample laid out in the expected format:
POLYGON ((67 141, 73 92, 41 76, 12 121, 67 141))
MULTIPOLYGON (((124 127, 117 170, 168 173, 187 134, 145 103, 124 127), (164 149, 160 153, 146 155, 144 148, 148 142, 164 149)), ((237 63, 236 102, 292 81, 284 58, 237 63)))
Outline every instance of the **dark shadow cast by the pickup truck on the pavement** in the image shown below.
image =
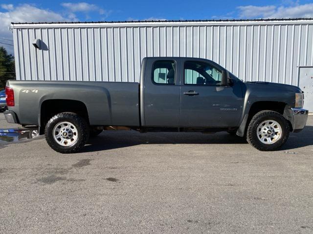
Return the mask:
MULTIPOLYGON (((91 138, 82 152, 95 152, 142 144, 247 144, 244 137, 231 136, 221 132, 201 133, 145 133, 135 131, 105 131, 91 138)), ((290 150, 313 145, 313 126, 307 126, 302 132, 291 133, 289 140, 281 150, 290 150)))

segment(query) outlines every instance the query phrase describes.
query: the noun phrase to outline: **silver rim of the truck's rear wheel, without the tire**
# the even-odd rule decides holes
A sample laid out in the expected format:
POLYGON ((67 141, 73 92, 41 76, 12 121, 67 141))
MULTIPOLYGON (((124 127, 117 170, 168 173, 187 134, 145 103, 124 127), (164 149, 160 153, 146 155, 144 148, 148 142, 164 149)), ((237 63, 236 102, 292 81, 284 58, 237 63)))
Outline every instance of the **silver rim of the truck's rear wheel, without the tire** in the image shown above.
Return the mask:
POLYGON ((53 138, 59 145, 71 146, 78 139, 77 128, 70 122, 57 123, 53 128, 53 138))

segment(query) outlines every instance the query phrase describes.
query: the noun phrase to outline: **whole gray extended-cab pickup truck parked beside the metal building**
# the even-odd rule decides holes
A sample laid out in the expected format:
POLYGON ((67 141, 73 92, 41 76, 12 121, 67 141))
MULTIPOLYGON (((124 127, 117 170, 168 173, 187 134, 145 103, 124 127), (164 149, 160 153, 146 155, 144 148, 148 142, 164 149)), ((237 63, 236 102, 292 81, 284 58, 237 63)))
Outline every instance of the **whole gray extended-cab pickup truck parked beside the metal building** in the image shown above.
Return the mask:
POLYGON ((210 60, 158 57, 143 59, 140 83, 10 80, 4 115, 39 126, 60 153, 77 152, 110 129, 226 131, 272 151, 304 128, 303 100, 296 86, 243 82, 210 60))

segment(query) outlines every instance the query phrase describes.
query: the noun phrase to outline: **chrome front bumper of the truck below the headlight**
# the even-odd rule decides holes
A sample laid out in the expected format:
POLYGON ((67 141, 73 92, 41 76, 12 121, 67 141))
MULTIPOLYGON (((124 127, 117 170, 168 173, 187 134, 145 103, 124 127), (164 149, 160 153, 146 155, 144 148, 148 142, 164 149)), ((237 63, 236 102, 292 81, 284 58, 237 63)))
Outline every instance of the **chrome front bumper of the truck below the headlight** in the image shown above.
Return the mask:
POLYGON ((309 111, 303 108, 291 108, 288 119, 291 122, 294 133, 300 132, 307 123, 309 111))

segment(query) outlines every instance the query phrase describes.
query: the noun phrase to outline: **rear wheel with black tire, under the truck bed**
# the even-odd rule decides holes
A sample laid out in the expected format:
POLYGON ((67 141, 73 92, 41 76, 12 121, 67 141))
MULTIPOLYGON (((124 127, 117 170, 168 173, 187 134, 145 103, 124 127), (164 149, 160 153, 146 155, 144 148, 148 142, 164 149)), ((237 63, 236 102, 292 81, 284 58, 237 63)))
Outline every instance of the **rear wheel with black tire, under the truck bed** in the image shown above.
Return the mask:
POLYGON ((56 152, 76 153, 89 139, 89 125, 75 113, 60 113, 50 118, 46 124, 45 139, 56 152))

